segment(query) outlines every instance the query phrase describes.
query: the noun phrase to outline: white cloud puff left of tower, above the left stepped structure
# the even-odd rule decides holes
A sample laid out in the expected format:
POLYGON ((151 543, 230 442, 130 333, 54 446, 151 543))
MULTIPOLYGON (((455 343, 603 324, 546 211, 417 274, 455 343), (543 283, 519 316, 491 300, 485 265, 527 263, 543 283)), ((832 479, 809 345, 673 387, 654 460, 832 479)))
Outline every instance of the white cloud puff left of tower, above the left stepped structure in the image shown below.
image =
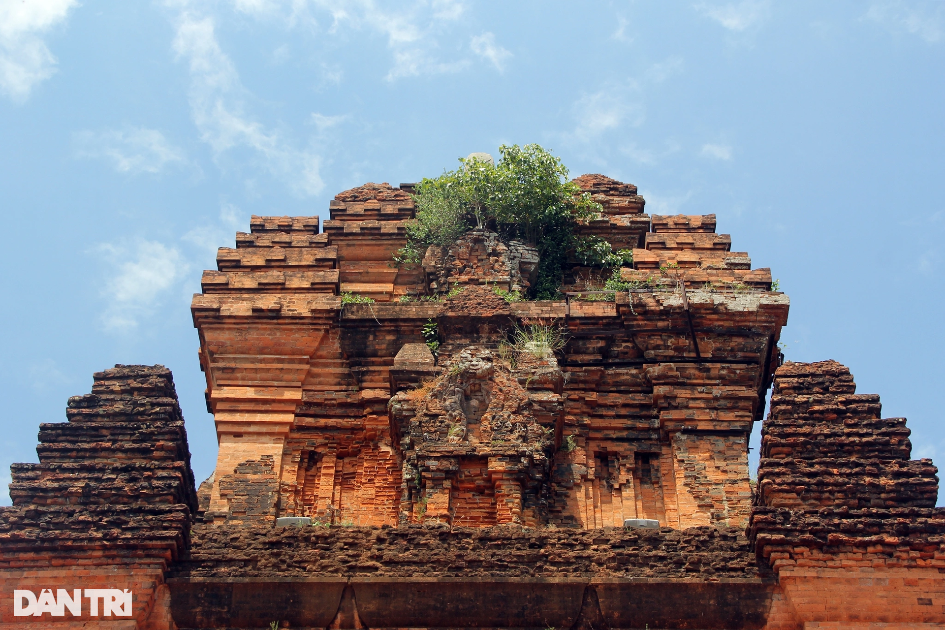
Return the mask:
POLYGON ((114 270, 103 292, 108 308, 102 315, 106 328, 112 330, 137 327, 139 319, 153 312, 189 268, 177 248, 156 241, 104 244, 98 252, 114 270))

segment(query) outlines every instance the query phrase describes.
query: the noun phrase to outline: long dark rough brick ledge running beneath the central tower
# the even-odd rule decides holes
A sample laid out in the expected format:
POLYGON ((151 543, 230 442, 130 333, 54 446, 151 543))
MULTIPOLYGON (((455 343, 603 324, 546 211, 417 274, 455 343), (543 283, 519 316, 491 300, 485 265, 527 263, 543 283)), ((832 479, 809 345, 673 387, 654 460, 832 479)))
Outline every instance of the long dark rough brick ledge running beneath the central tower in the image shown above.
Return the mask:
POLYGON ((713 580, 770 575, 736 527, 362 528, 196 525, 169 577, 623 576, 713 580))

